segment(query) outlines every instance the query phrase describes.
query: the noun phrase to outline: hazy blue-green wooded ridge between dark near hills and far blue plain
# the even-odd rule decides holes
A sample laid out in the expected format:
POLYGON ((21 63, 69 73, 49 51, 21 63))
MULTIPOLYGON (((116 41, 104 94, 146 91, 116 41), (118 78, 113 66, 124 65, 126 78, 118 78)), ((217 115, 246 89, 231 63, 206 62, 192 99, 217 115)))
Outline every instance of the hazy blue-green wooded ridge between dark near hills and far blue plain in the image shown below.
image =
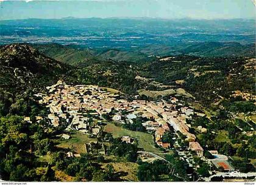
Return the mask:
POLYGON ((255 56, 255 45, 241 45, 238 42, 200 42, 183 45, 150 45, 132 50, 118 49, 85 49, 78 45, 34 44, 33 47, 41 53, 57 61, 70 65, 84 64, 89 61, 146 62, 154 61, 157 57, 169 55, 195 55, 205 57, 219 56, 255 56))

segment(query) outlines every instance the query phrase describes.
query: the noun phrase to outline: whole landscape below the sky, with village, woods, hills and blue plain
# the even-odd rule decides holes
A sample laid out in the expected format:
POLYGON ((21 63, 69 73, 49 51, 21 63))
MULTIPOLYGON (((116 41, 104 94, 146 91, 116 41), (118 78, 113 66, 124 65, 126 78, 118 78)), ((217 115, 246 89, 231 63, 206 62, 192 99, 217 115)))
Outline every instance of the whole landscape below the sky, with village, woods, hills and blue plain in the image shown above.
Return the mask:
POLYGON ((252 21, 3 21, 0 181, 255 181, 252 21))

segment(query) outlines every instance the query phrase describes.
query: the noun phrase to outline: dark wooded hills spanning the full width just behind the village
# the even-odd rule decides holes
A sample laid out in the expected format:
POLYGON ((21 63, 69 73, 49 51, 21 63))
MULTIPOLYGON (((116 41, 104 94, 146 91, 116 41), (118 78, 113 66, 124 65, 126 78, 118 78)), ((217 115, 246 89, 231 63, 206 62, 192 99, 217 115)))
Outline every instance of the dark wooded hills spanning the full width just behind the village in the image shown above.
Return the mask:
MULTIPOLYGON (((80 52, 59 45, 52 46, 56 47, 80 52)), ((49 52, 49 48, 48 45, 45 49, 49 52)), ((51 52, 54 55, 54 50, 51 52)), ((44 87, 60 78, 73 84, 112 87, 133 95, 140 89, 159 89, 138 81, 135 77, 139 75, 163 85, 182 87, 206 107, 229 99, 235 90, 255 95, 254 59, 247 57, 202 58, 178 55, 155 59, 153 62, 118 62, 102 58, 83 60, 84 56, 79 55, 77 58, 77 55, 73 55, 74 60, 77 58, 80 61, 79 66, 71 67, 63 64, 63 60, 58 62, 48 58, 26 44, 2 47, 0 57, 1 68, 4 69, 1 70, 0 85, 2 90, 8 89, 10 93, 44 87)))

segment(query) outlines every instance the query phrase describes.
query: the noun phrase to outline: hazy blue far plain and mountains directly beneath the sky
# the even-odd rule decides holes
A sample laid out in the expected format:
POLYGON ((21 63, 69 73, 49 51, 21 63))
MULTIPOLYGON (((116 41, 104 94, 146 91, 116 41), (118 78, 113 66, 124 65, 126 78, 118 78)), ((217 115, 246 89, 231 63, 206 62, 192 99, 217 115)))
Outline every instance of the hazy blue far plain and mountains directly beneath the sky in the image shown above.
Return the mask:
POLYGON ((254 20, 24 19, 0 21, 1 42, 126 49, 197 42, 255 42, 254 20))

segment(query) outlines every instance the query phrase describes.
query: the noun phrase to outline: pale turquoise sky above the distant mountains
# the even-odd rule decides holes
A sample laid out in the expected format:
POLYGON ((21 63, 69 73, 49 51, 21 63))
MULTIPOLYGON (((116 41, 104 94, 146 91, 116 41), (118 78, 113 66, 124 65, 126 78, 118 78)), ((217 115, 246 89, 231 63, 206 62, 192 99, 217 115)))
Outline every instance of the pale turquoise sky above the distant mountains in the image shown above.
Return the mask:
MULTIPOLYGON (((1 0, 0 0, 1 1, 1 0)), ((251 0, 2 1, 0 19, 26 18, 255 18, 251 0)))

